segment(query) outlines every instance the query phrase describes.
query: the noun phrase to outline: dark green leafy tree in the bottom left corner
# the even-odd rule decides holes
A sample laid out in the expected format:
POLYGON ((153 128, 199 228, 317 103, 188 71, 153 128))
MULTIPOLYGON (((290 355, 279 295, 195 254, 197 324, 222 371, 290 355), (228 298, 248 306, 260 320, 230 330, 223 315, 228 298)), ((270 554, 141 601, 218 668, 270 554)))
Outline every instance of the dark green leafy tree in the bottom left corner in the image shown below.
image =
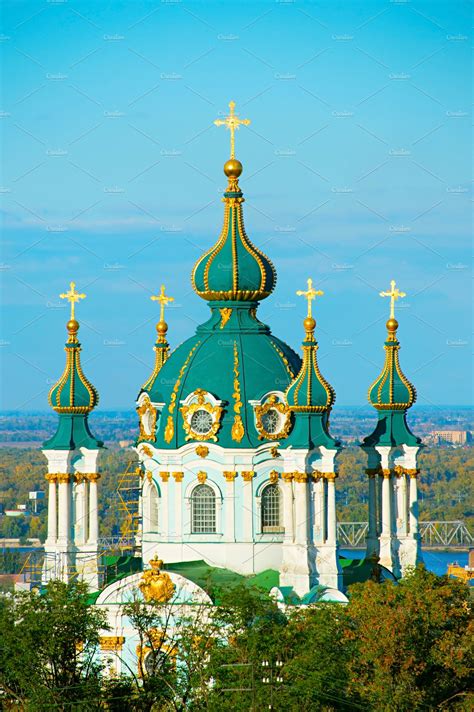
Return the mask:
POLYGON ((0 596, 0 690, 22 708, 99 709, 100 667, 94 661, 102 612, 81 583, 54 581, 44 593, 0 596), (88 706, 86 706, 88 705, 88 706))

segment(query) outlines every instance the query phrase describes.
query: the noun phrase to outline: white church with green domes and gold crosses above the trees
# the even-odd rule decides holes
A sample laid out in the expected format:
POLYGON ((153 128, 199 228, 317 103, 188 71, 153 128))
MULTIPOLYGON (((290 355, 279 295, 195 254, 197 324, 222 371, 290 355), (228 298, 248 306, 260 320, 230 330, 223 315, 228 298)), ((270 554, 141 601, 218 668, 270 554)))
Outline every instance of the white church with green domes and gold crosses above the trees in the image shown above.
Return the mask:
POLYGON ((259 304, 271 298, 277 275, 245 231, 235 133, 250 122, 238 117, 234 102, 229 108, 215 122, 230 134, 223 226, 191 275, 210 314, 171 350, 165 309, 173 297, 164 286, 152 297, 160 307, 155 362, 147 381, 137 384, 135 404, 139 555, 128 557, 128 568, 115 576, 100 546, 103 443, 88 423, 99 396, 80 361, 75 307, 85 295, 73 282, 60 295, 70 302, 71 318, 65 369, 49 394, 58 428, 43 446, 48 536, 42 582, 78 577, 89 584, 93 603, 108 612, 112 633, 104 635, 103 650, 115 656, 116 672, 122 650, 132 655, 135 649, 121 613, 133 596, 212 604, 208 582, 245 581, 282 606, 344 603, 350 583, 399 578, 421 560, 421 441, 406 420, 416 391, 401 370, 395 318, 396 301, 405 294, 395 281, 381 292, 390 302, 385 356, 368 392, 377 425, 360 444, 367 462, 367 552, 347 559, 337 536, 341 444, 330 430, 336 394, 318 365, 315 313, 323 292, 311 277, 297 292, 300 345, 286 344, 260 321, 259 304))

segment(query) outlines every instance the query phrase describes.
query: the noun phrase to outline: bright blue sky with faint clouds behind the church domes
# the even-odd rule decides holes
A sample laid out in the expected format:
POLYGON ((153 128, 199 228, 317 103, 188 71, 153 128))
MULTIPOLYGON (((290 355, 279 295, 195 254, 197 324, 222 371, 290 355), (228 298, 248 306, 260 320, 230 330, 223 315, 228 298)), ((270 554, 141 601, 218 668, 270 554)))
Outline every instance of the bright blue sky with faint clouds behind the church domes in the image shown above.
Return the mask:
POLYGON ((164 282, 172 346, 207 318, 189 275, 217 238, 230 99, 249 236, 278 284, 259 316, 299 348, 308 276, 321 370, 366 402, 395 278, 422 405, 469 404, 469 3, 3 3, 2 400, 42 409, 71 279, 101 407, 131 408, 164 282))

